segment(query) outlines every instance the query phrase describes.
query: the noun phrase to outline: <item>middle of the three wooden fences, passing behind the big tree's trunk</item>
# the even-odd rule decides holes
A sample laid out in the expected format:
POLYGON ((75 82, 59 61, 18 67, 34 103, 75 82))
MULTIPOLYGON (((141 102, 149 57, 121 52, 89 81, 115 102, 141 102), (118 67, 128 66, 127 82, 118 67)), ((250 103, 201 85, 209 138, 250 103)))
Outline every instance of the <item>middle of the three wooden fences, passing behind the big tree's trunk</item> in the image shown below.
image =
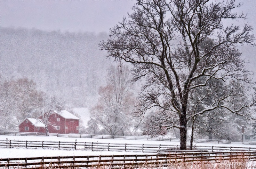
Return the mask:
MULTIPOLYGON (((123 144, 123 143, 98 143, 98 142, 68 142, 68 141, 21 141, 21 140, 0 140, 0 147, 13 148, 56 148, 76 149, 90 151, 133 151, 133 152, 171 152, 178 150, 179 145, 170 144, 123 144)), ((189 147, 188 147, 189 148, 189 147)), ((256 151, 256 147, 237 146, 208 146, 194 145, 194 150, 207 151, 256 151)))

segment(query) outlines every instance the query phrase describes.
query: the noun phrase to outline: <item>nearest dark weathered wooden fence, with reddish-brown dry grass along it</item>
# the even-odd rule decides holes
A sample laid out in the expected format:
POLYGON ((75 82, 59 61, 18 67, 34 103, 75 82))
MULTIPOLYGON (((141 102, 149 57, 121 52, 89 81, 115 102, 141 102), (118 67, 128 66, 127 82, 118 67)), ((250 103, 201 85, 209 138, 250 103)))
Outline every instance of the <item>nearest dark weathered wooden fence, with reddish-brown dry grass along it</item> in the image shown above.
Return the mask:
POLYGON ((102 155, 102 156, 63 156, 33 158, 2 158, 0 168, 90 168, 109 165, 111 168, 138 166, 166 166, 170 163, 194 161, 223 161, 233 159, 255 160, 256 151, 250 152, 189 152, 149 155, 102 155))

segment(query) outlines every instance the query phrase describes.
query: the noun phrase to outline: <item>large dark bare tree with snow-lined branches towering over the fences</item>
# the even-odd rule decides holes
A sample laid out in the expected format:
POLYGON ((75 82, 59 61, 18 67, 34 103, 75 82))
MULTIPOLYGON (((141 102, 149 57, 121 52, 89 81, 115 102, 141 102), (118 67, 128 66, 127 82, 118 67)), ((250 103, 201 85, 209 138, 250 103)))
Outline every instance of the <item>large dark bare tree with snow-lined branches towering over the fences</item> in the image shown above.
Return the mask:
POLYGON ((108 57, 132 63, 133 81, 147 81, 141 88, 138 115, 153 109, 169 112, 172 116, 162 127, 180 130, 181 150, 187 148, 191 92, 207 86, 215 89, 213 80, 225 82, 226 90, 213 94, 212 102, 195 116, 227 109, 251 118, 243 110, 255 105, 255 95, 243 104, 234 103, 252 84, 236 48, 237 44, 254 45, 252 26, 223 24, 227 19, 246 18, 232 12, 241 5, 235 0, 137 0, 128 19, 110 29, 110 38, 99 45, 108 57))

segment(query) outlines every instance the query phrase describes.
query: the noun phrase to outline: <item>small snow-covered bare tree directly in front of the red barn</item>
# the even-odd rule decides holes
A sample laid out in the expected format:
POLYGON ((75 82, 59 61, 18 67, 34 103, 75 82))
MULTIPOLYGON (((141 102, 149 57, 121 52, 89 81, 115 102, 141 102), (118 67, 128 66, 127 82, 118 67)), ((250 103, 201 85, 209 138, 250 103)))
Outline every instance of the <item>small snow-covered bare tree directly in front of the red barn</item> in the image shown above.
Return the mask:
POLYGON ((39 116, 36 119, 44 124, 46 133, 49 133, 49 126, 55 127, 55 123, 52 123, 49 117, 62 109, 63 102, 56 96, 45 96, 37 101, 36 111, 39 112, 39 116))

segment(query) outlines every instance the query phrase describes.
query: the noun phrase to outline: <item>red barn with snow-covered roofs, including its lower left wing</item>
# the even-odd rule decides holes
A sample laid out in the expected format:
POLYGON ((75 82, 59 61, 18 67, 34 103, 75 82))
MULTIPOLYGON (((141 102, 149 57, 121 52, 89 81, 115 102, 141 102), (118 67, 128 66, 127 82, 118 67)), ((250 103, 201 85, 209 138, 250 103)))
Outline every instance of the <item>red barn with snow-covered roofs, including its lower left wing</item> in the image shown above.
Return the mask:
MULTIPOLYGON (((40 117, 39 117, 40 119, 40 117)), ((54 125, 48 126, 49 133, 78 133, 79 118, 66 110, 54 112, 49 117, 49 122, 54 125)), ((44 124, 35 118, 26 118, 19 125, 20 132, 45 133, 44 124)))

